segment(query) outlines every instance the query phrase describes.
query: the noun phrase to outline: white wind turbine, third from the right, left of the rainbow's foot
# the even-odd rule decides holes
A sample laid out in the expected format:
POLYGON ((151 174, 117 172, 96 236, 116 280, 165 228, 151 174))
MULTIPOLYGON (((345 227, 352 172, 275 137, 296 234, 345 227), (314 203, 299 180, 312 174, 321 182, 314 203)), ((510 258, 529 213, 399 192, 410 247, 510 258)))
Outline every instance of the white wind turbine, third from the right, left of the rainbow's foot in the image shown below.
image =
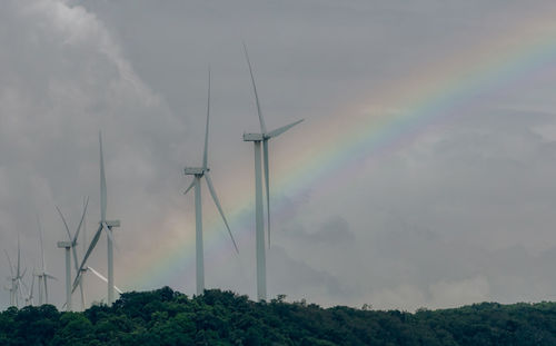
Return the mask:
POLYGON ((100 221, 99 228, 97 233, 92 237, 91 244, 85 254, 83 260, 81 261, 81 266, 79 266, 79 270, 76 276, 76 280, 73 281, 73 289, 76 289, 79 284, 82 271, 86 268, 87 259, 91 255, 92 250, 97 246, 99 241, 100 234, 102 230, 107 235, 107 244, 108 244, 108 305, 113 303, 115 297, 115 288, 113 288, 113 237, 112 237, 112 228, 120 227, 119 220, 107 220, 106 219, 106 210, 107 210, 107 187, 106 187, 106 176, 105 176, 105 158, 102 156, 102 135, 99 131, 99 146, 100 146, 100 221))

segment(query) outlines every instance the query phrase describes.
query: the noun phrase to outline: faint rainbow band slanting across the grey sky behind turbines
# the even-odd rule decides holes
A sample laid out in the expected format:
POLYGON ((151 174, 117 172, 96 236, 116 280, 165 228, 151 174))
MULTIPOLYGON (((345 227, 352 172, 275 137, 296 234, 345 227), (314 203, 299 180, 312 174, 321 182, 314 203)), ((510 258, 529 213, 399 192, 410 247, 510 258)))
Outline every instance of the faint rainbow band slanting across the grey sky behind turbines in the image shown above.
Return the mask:
MULTIPOLYGON (((296 197, 339 174, 349 175, 347 171, 354 171, 354 166, 396 150, 431 126, 449 119, 456 109, 473 107, 484 96, 554 69, 555 13, 545 14, 546 20, 536 18, 535 22, 522 23, 510 32, 485 36, 474 47, 418 67, 418 72, 383 86, 381 92, 375 92, 374 97, 359 102, 353 100, 355 106, 337 111, 340 116, 301 125, 298 132, 311 131, 311 139, 324 140, 316 146, 307 137, 298 137, 295 140, 300 142, 297 148, 301 150, 288 161, 274 165, 272 190, 280 191, 271 201, 274 221, 279 224, 286 199, 295 201, 296 197)), ((288 136, 296 137, 295 134, 288 136)), ((226 191, 236 196, 235 207, 226 209, 240 244, 241 238, 252 234, 251 181, 244 184, 226 191)), ((190 225, 183 225, 180 219, 168 220, 166 227, 171 230, 168 236, 171 240, 143 254, 136 264, 137 269, 126 273, 122 281, 128 283, 128 288, 171 285, 176 273, 181 276, 190 273, 189 277, 195 279, 193 223, 187 224, 190 225), (179 236, 183 233, 191 237, 179 236)), ((206 223, 205 233, 207 259, 211 263, 227 260, 232 253, 221 229, 221 220, 215 212, 206 223)))

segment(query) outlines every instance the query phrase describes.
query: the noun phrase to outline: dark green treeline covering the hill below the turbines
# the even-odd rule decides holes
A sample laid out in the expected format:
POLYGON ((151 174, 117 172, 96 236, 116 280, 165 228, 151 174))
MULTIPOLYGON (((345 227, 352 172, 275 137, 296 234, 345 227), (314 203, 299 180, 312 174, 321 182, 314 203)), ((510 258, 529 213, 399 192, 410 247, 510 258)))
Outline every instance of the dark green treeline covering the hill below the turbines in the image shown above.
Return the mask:
POLYGON ((230 291, 126 293, 83 313, 0 313, 0 345, 556 345, 556 304, 483 303, 415 314, 254 303, 230 291))

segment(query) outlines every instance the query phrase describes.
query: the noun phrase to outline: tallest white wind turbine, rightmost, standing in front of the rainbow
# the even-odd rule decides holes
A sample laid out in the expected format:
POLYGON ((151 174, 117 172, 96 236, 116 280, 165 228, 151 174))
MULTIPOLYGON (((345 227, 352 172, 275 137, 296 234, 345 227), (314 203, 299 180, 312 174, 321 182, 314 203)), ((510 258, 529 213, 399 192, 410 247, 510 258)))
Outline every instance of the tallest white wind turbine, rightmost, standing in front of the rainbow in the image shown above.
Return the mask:
POLYGON ((249 73, 251 76, 252 91, 255 93, 255 101, 257 105, 257 115, 259 116, 260 134, 244 134, 244 141, 252 141, 255 147, 255 239, 257 253, 257 298, 259 300, 267 299, 267 259, 265 248, 265 221, 264 221, 264 207, 262 207, 262 174, 261 174, 261 145, 262 145, 262 161, 265 167, 265 185, 267 197, 267 224, 268 224, 268 246, 270 246, 270 177, 268 165, 268 141, 271 138, 278 137, 286 132, 294 126, 304 121, 297 120, 289 125, 277 128, 272 131, 267 131, 265 119, 260 110, 259 96, 257 93, 257 86, 255 85, 255 77, 252 73, 251 62, 247 52, 247 46, 244 43, 244 52, 246 56, 249 73))

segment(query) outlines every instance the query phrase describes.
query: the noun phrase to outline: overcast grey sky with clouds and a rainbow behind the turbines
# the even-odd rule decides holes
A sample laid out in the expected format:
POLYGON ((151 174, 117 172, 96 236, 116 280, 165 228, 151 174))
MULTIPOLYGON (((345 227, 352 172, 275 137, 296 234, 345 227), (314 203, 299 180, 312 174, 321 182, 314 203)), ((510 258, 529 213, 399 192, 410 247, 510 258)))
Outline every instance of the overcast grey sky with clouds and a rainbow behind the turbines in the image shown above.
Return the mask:
MULTIPOLYGON (((239 255, 203 185, 206 285, 256 297, 242 42, 267 127, 305 119, 270 142, 270 298, 404 310, 556 299, 554 1, 0 7, 0 245, 14 261, 19 235, 30 283, 40 219, 58 307, 56 206, 75 231, 89 196, 82 254, 100 216, 99 130, 108 217, 121 220, 117 286, 195 294, 182 169, 202 160, 209 66, 208 159, 239 255)), ((105 237, 90 265, 106 275, 105 237)), ((86 283, 89 304, 106 299, 86 283)))

